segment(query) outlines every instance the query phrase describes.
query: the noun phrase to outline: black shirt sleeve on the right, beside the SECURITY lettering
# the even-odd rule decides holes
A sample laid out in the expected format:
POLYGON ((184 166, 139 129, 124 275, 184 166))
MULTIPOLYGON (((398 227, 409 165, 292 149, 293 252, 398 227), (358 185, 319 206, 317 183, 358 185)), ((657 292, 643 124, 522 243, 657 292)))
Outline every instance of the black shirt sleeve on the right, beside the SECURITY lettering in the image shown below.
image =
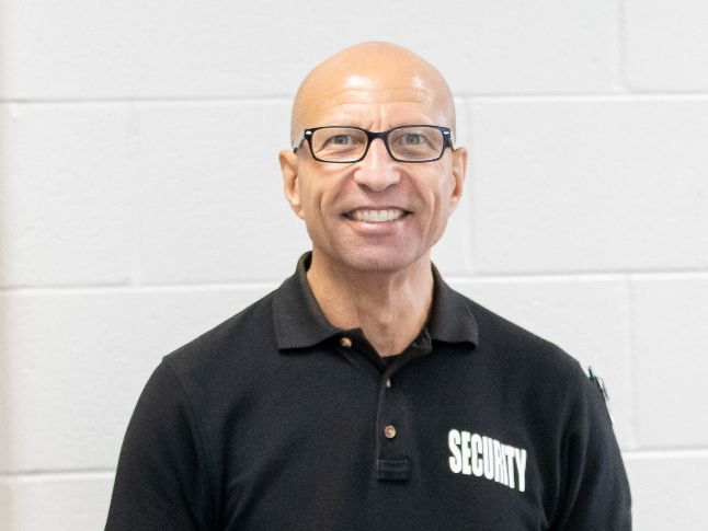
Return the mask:
POLYGON ((555 531, 629 531, 631 496, 605 397, 579 368, 555 531))

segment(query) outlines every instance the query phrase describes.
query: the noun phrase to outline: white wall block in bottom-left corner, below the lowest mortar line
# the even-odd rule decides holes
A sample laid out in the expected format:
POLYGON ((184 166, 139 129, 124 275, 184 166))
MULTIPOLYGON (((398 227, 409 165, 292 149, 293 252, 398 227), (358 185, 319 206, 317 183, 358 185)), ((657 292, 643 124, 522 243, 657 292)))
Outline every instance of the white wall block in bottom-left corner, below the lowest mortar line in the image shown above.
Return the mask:
POLYGON ((95 531, 109 512, 113 474, 0 478, 0 531, 95 531))

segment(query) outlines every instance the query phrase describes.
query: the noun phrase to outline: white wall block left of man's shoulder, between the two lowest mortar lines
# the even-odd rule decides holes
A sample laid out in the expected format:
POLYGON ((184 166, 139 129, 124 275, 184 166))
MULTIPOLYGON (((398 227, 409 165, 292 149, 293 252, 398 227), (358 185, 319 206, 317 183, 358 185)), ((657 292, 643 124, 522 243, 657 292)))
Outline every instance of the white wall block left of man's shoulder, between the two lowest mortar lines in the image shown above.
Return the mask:
POLYGON ((162 356, 274 287, 0 295, 0 472, 115 466, 162 356))

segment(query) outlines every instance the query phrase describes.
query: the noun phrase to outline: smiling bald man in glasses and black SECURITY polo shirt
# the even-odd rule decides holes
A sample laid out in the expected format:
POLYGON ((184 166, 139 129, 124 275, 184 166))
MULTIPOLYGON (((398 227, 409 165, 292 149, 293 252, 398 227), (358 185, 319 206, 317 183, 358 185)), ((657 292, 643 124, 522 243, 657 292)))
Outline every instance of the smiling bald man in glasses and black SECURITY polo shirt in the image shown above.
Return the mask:
POLYGON ((279 162, 312 251, 156 369, 107 530, 630 529, 597 386, 432 267, 454 131, 447 84, 403 48, 310 72, 279 162))

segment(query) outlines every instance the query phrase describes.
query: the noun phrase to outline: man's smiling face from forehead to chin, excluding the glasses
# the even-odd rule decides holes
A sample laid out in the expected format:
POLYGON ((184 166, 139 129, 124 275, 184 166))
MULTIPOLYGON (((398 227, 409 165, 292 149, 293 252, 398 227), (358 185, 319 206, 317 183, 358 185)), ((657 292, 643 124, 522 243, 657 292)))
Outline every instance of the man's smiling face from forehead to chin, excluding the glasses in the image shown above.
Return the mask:
MULTIPOLYGON (((344 76, 317 94, 305 127, 357 126, 372 131, 407 124, 452 126, 434 83, 409 76, 344 76), (400 76, 398 77, 400 78, 400 76)), ((286 196, 305 221, 313 259, 339 269, 399 272, 430 261, 459 200, 467 153, 397 162, 380 139, 355 163, 316 161, 304 142, 281 153, 286 196)))

